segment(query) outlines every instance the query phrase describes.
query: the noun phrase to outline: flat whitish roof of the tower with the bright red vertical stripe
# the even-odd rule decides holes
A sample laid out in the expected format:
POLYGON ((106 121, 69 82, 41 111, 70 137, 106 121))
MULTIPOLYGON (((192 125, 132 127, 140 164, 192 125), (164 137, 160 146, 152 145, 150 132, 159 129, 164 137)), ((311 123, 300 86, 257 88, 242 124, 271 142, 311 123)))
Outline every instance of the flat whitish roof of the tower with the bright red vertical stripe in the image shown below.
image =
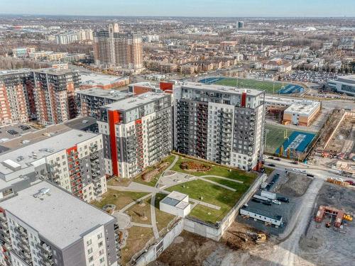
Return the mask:
POLYGON ((138 96, 126 98, 124 100, 117 101, 113 104, 107 104, 105 108, 109 110, 127 111, 136 108, 137 106, 141 106, 142 104, 148 104, 151 101, 155 101, 157 99, 163 99, 167 95, 169 94, 163 94, 158 92, 146 92, 145 94, 140 94, 138 96))

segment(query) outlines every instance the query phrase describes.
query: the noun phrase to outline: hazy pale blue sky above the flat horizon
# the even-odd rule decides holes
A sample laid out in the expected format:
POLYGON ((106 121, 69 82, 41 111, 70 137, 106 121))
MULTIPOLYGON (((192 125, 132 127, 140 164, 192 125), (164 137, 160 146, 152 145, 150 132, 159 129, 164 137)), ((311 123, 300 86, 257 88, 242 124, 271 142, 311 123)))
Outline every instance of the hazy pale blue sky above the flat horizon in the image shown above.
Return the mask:
POLYGON ((0 13, 77 16, 355 16, 355 0, 0 0, 0 13))

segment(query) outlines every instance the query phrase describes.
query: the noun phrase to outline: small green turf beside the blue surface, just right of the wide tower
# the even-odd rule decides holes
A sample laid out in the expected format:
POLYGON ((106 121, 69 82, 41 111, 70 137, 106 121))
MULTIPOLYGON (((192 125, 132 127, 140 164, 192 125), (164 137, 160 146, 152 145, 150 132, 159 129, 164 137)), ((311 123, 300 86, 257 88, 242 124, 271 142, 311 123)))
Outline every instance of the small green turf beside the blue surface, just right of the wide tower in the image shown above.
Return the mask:
POLYGON ((280 148, 280 145, 283 144, 285 141, 284 135, 287 135, 289 137, 292 133, 293 130, 290 130, 288 128, 287 132, 285 133, 285 128, 282 126, 272 126, 272 125, 266 125, 266 153, 274 154, 275 151, 280 148))

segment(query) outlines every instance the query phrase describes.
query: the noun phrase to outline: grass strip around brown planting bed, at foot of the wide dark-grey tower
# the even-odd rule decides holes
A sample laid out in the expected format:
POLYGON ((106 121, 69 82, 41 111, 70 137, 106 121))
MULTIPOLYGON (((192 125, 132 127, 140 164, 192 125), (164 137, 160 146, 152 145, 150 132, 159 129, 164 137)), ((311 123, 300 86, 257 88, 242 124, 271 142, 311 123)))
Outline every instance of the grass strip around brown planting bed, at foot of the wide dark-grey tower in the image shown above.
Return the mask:
POLYGON ((244 172, 242 170, 230 170, 227 167, 212 165, 207 162, 200 162, 203 165, 209 165, 212 167, 211 170, 209 170, 207 172, 189 172, 189 171, 182 170, 180 168, 181 163, 182 162, 189 162, 189 161, 190 162, 192 162, 192 161, 200 162, 198 160, 192 160, 192 159, 180 156, 178 162, 176 162, 176 164, 173 166, 173 168, 171 170, 176 171, 176 172, 184 172, 186 174, 195 175, 197 177, 201 177, 203 175, 218 175, 219 177, 227 177, 230 179, 240 180, 246 184, 253 183, 253 180, 256 179, 256 176, 257 176, 257 174, 255 174, 253 172, 244 172))

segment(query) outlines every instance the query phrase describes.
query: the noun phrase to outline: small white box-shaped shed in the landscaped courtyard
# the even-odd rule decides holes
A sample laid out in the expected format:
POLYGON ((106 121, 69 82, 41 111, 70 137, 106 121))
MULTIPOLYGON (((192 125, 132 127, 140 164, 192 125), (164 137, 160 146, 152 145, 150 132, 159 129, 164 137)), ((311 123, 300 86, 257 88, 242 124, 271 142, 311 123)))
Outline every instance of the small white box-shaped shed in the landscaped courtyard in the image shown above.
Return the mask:
POLYGON ((171 192, 159 203, 160 211, 185 217, 190 214, 189 196, 180 192, 171 192))

